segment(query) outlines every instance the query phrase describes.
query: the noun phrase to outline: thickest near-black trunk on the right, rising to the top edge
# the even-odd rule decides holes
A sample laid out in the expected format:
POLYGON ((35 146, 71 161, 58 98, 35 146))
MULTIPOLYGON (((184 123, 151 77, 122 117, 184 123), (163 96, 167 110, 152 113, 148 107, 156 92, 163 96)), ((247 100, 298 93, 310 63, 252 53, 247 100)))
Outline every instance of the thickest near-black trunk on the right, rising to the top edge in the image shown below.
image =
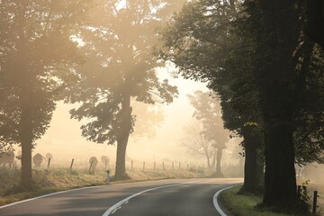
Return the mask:
POLYGON ((260 0, 254 18, 257 33, 257 87, 266 132, 266 174, 263 204, 292 210, 297 204, 294 170, 293 58, 301 39, 301 1, 260 0))

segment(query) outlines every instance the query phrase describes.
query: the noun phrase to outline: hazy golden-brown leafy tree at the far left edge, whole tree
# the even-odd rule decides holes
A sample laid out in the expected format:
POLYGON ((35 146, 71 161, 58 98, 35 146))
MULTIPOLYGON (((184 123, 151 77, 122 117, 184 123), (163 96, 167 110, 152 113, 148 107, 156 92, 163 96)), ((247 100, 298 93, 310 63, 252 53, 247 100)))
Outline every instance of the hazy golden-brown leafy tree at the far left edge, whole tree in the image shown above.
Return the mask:
POLYGON ((0 1, 0 139, 22 146, 23 188, 31 149, 49 127, 59 89, 80 62, 76 23, 89 1, 0 1), (46 51, 44 51, 46 50, 46 51))

